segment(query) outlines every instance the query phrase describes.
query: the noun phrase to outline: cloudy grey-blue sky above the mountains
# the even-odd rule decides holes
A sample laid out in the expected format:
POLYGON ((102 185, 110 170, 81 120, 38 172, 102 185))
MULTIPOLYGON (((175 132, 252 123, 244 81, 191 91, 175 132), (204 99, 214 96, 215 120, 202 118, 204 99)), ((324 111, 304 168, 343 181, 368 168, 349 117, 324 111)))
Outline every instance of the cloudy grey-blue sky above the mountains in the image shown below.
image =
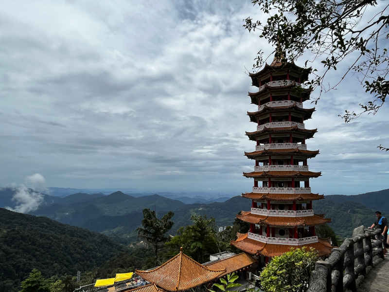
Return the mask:
MULTIPOLYGON (((0 185, 38 173, 58 187, 250 191, 247 73, 272 48, 244 30, 247 16, 263 17, 248 0, 5 3, 0 185)), ((388 107, 346 125, 337 117, 368 99, 351 75, 306 122, 318 128, 308 148, 321 153, 308 162, 322 171, 314 192, 388 188, 389 153, 376 148, 389 145, 388 107)))

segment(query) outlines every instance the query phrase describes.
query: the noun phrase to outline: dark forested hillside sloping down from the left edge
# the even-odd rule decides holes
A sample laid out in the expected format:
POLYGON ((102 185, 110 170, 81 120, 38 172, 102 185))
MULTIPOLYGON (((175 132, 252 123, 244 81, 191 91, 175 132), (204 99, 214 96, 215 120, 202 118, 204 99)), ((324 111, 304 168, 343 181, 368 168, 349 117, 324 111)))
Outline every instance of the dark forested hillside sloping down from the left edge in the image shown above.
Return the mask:
POLYGON ((0 208, 0 291, 17 291, 34 268, 47 277, 75 275, 123 251, 102 234, 0 208))

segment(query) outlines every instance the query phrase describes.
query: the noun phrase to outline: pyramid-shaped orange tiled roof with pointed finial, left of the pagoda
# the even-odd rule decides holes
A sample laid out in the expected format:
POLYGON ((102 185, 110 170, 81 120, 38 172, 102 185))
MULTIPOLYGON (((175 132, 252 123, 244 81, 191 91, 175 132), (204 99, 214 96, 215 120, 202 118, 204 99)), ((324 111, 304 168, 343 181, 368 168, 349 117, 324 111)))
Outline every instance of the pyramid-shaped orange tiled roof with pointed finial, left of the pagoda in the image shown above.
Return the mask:
POLYGON ((157 268, 136 270, 136 274, 166 291, 183 291, 220 277, 226 269, 212 270, 180 251, 157 268))

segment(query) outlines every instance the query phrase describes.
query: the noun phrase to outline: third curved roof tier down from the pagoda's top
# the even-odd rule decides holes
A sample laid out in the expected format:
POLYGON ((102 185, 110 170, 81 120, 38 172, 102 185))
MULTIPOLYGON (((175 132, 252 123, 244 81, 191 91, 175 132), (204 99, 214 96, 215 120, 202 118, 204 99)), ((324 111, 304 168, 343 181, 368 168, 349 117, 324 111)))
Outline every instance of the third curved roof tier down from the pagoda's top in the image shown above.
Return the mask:
MULTIPOLYGON (((276 103, 275 103, 276 104, 276 103)), ((315 111, 315 108, 311 109, 303 109, 299 107, 296 103, 285 106, 272 106, 271 103, 265 104, 261 106, 261 109, 254 112, 247 112, 247 115, 250 117, 250 121, 254 123, 258 123, 265 114, 267 114, 266 118, 271 113, 274 114, 289 116, 291 115, 292 119, 302 119, 303 121, 308 120, 312 117, 312 113, 315 111)))

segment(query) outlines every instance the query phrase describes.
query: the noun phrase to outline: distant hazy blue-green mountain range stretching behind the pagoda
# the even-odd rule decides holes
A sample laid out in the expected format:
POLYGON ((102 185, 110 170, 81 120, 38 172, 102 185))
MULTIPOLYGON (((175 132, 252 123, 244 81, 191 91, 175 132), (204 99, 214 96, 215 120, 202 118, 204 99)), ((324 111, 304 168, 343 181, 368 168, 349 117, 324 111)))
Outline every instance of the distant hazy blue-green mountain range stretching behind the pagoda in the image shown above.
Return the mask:
MULTIPOLYGON (((14 189, 0 189, 0 207, 12 207, 15 204, 12 201, 14 193, 14 189)), ((325 214, 332 219, 330 226, 338 235, 348 237, 354 227, 371 225, 375 210, 389 213, 388 195, 389 189, 354 196, 330 195, 315 201, 314 209, 317 214, 325 214)), ((232 225, 239 211, 249 210, 249 207, 249 201, 241 197, 223 202, 188 204, 160 195, 134 197, 117 191, 107 196, 102 193, 75 193, 65 197, 44 195, 39 208, 29 213, 100 232, 121 243, 130 243, 137 240, 135 229, 141 224, 143 208, 156 210, 159 216, 173 211, 175 224, 171 233, 175 234, 179 227, 190 224, 192 214, 213 217, 218 226, 227 226, 232 225)))

